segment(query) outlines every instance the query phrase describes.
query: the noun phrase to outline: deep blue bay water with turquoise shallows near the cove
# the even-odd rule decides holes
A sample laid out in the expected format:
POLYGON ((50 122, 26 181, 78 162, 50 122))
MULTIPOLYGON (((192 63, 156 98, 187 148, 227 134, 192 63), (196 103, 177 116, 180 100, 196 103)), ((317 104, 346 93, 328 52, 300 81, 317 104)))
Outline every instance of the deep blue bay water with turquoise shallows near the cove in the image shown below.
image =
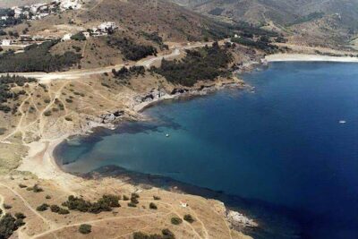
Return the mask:
POLYGON ((358 238, 358 64, 271 64, 244 79, 254 93, 160 104, 150 123, 64 143, 64 170, 115 164, 294 211, 298 231, 271 238, 358 238))

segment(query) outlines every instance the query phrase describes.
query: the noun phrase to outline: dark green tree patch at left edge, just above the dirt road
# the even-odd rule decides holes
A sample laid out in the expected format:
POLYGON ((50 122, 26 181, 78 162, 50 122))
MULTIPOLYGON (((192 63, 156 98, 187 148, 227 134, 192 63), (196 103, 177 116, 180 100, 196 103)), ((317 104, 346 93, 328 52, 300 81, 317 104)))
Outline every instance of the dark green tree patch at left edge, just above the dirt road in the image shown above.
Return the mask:
POLYGON ((80 62, 81 55, 65 52, 63 55, 52 55, 49 50, 58 40, 47 41, 41 45, 25 47, 23 53, 0 55, 0 73, 55 72, 69 68, 80 62))

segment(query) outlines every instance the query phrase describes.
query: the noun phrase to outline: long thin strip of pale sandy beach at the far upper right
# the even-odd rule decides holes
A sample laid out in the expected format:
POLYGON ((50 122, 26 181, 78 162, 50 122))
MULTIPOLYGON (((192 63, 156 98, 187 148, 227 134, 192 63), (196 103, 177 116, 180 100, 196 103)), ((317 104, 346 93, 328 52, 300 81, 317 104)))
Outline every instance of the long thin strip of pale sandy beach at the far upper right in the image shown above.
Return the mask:
POLYGON ((308 55, 308 54, 274 54, 267 55, 265 60, 273 62, 337 62, 337 63, 358 63, 357 57, 350 56, 329 56, 329 55, 308 55))

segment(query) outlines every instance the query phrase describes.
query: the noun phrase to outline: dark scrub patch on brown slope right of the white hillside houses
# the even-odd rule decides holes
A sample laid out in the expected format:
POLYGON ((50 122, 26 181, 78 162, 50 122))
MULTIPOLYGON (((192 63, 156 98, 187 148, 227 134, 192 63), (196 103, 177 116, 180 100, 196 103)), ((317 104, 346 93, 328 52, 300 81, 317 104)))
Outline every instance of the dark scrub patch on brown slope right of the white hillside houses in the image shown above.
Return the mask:
POLYGON ((124 55, 124 58, 131 61, 141 60, 148 55, 157 55, 155 47, 138 45, 131 38, 109 37, 107 44, 118 48, 124 55))

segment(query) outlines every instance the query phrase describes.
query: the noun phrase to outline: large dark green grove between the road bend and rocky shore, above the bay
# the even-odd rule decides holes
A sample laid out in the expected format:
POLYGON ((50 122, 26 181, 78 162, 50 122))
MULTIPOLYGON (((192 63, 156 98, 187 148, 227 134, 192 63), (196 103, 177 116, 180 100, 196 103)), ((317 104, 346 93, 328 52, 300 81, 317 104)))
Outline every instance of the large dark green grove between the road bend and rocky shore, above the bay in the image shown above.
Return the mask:
POLYGON ((214 81, 218 76, 226 76, 226 69, 232 61, 232 55, 217 43, 213 47, 202 47, 199 50, 187 50, 181 61, 163 60, 160 68, 152 67, 151 71, 166 77, 167 81, 183 86, 193 86, 197 81, 214 81))

